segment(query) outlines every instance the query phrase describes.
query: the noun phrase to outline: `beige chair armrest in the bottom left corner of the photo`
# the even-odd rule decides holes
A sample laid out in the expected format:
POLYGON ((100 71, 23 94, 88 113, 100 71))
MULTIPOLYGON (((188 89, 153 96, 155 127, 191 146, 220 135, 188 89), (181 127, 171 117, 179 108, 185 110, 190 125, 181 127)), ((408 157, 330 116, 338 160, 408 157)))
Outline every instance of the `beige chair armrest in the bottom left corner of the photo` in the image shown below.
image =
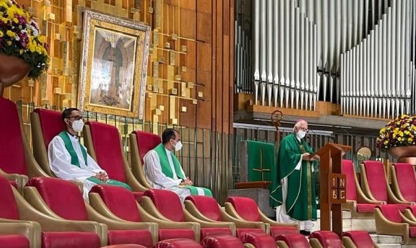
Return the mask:
POLYGON ((29 240, 31 248, 40 247, 42 230, 36 221, 20 221, 0 218, 0 234, 20 234, 29 240))

